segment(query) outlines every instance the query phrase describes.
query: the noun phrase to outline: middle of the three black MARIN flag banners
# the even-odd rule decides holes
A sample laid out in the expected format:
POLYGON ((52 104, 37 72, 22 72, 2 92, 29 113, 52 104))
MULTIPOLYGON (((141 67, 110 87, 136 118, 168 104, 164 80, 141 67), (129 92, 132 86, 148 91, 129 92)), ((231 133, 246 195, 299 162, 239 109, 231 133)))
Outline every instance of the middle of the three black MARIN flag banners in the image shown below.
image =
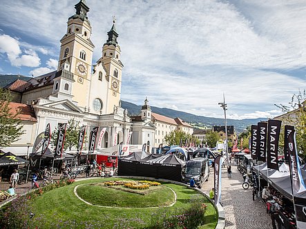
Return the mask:
POLYGON ((260 122, 257 124, 258 126, 258 145, 257 145, 257 152, 258 152, 258 161, 266 161, 266 152, 267 152, 267 122, 260 122))

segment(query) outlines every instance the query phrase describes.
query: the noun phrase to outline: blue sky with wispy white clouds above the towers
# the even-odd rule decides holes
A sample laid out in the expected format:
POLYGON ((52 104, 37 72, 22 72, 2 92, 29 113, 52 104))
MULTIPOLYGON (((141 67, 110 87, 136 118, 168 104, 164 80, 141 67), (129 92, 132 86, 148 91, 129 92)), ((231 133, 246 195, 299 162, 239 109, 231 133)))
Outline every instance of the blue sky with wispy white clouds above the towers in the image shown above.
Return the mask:
MULTIPOLYGON (((57 68, 73 1, 1 1, 0 73, 57 68)), ((117 18, 122 99, 232 119, 274 117, 306 89, 306 1, 86 0, 101 57, 117 18)))

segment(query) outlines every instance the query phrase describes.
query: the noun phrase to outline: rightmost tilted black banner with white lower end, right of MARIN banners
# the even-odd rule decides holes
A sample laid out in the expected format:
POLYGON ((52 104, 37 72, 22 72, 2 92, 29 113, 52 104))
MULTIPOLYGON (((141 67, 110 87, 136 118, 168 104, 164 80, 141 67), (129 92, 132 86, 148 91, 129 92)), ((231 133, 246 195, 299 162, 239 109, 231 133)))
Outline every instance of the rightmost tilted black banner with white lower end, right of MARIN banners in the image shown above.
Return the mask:
POLYGON ((287 149, 289 152, 289 169, 291 176, 292 194, 296 195, 298 192, 306 190, 303 181, 302 172, 300 172, 300 162, 298 161, 298 151, 296 150, 296 132, 292 132, 288 136, 287 149))

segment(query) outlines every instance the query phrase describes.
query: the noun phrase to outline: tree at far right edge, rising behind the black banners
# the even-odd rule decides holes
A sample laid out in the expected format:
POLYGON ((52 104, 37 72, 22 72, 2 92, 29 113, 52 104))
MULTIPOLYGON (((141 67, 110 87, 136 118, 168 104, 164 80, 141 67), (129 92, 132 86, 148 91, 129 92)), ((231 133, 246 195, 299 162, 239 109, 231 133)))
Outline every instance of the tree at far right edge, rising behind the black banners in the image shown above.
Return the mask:
MULTIPOLYGON (((286 112, 286 114, 281 117, 283 128, 285 125, 295 127, 298 152, 302 154, 303 159, 306 159, 306 90, 294 94, 291 97, 289 106, 283 104, 276 106, 283 112, 286 112)), ((282 139, 284 139, 283 134, 280 135, 280 146, 283 146, 282 139)))

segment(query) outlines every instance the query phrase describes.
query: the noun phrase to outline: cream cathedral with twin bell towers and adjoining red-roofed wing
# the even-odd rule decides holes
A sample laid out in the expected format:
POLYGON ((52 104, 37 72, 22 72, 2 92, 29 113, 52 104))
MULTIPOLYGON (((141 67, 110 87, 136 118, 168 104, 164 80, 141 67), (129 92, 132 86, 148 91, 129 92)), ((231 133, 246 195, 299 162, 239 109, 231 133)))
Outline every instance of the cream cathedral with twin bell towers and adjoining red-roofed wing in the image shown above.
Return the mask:
POLYGON ((90 40, 92 28, 88 12, 86 1, 80 0, 75 5, 75 14, 68 18, 66 33, 60 39, 57 70, 28 81, 17 79, 5 87, 14 98, 10 103, 12 111, 21 110, 19 118, 26 134, 3 150, 28 155, 35 138, 45 131, 48 123, 52 132, 71 119, 79 122, 79 126, 86 126, 88 135, 95 127, 99 131, 106 128, 102 148, 113 151, 119 143, 129 141, 138 146, 133 150, 141 150, 146 143, 150 152, 175 129, 192 135, 189 123, 152 113, 147 99, 139 117, 128 117, 120 100, 124 66, 120 61, 115 17, 101 57, 94 62, 95 45, 90 40))

